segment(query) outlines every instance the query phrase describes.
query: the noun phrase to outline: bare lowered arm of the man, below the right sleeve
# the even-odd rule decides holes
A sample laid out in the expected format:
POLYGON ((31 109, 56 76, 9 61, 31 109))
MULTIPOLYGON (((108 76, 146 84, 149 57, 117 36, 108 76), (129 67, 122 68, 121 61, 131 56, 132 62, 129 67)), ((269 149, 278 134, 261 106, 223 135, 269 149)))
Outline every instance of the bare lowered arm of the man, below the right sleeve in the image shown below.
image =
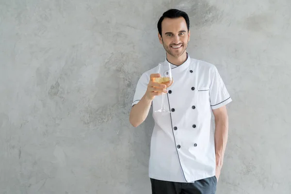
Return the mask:
POLYGON ((212 111, 215 118, 215 133, 214 133, 215 157, 216 157, 215 176, 218 180, 223 165, 223 159, 228 138, 228 115, 225 105, 218 109, 213 109, 212 111))

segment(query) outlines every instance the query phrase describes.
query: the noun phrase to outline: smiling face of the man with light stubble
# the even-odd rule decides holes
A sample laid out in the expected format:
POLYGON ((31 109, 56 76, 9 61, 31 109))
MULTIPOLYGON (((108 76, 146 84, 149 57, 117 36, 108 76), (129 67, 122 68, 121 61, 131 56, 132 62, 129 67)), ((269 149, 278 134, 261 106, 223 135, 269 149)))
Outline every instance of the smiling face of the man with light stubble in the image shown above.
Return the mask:
POLYGON ((190 40, 186 21, 183 17, 164 18, 162 21, 162 36, 160 43, 166 52, 173 57, 181 56, 187 49, 190 40))

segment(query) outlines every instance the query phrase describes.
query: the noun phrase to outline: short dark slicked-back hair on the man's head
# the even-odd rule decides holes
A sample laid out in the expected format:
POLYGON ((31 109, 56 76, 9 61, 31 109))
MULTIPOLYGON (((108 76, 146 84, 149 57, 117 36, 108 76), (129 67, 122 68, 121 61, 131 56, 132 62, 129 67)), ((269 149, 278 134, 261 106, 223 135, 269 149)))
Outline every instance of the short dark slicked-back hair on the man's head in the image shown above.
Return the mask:
POLYGON ((186 24, 187 24, 188 32, 189 32, 190 21, 189 21, 189 17, 186 14, 186 12, 180 11, 178 9, 169 9, 165 13, 163 13, 162 17, 158 21, 158 31, 159 31, 161 36, 162 36, 162 20, 166 17, 168 17, 168 18, 184 17, 186 24))

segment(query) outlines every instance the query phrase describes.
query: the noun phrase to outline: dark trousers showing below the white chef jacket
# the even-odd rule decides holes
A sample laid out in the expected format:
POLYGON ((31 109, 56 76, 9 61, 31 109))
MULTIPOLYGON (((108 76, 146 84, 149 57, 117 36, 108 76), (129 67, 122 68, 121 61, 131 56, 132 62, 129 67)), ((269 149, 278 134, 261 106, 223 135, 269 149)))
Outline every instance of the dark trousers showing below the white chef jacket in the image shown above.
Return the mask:
POLYGON ((169 182, 150 178, 152 194, 215 194, 215 176, 193 183, 169 182))

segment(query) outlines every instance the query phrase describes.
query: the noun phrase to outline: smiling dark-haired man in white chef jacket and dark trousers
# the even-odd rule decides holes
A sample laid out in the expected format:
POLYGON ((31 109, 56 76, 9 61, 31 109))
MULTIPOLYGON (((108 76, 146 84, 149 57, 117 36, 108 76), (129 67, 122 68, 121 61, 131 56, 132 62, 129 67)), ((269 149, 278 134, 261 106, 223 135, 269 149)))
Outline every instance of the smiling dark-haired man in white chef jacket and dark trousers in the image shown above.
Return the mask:
POLYGON ((129 115, 132 126, 143 123, 153 106, 149 177, 152 194, 215 194, 228 133, 226 104, 231 102, 217 68, 190 58, 189 17, 166 11, 158 22, 158 36, 171 64, 173 84, 154 82, 157 67, 139 79, 129 115), (170 113, 155 113, 161 108, 170 113), (211 113, 215 129, 211 129, 211 113))

